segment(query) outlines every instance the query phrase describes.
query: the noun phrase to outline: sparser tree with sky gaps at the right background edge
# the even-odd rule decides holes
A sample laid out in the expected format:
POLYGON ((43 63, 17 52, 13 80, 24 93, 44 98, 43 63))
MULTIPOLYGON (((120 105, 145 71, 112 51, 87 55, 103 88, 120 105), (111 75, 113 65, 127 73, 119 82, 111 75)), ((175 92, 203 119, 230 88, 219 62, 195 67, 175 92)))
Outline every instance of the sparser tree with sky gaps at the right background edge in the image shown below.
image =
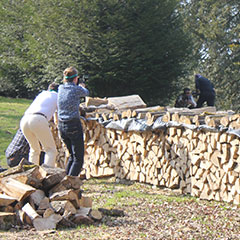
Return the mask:
POLYGON ((185 27, 194 39, 196 72, 211 79, 217 106, 239 108, 240 2, 238 0, 187 0, 185 27))

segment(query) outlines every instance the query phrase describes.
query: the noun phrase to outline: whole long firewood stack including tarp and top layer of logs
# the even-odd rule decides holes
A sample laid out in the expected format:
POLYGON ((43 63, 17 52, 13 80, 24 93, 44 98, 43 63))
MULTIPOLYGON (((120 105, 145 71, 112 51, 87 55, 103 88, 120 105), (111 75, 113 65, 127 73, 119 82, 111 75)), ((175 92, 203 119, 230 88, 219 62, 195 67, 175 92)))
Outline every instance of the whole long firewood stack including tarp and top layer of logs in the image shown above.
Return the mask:
POLYGON ((239 114, 215 107, 130 106, 98 108, 86 111, 85 117, 87 179, 115 175, 179 188, 201 199, 240 203, 239 114), (164 128, 151 129, 159 118, 164 128), (105 125, 127 119, 144 120, 150 128, 129 131, 105 125))

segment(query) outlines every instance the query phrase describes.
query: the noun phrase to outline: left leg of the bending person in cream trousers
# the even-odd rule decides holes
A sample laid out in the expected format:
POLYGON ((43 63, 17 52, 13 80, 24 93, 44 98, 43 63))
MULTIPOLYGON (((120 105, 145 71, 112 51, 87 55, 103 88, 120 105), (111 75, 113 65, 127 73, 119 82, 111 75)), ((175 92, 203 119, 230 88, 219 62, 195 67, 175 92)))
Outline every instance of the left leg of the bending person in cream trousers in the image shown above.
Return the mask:
POLYGON ((40 144, 36 135, 30 128, 32 121, 34 121, 33 115, 23 116, 20 127, 30 146, 28 160, 29 162, 39 165, 40 144))

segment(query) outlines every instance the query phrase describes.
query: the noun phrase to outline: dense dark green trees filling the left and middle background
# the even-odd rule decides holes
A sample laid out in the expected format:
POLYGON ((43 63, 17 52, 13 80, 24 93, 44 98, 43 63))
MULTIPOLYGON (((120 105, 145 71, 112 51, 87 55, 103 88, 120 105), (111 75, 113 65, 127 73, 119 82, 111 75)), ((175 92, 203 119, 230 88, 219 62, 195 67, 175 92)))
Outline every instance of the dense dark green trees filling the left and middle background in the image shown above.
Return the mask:
POLYGON ((31 96, 74 65, 90 75, 92 95, 139 94, 149 104, 166 103, 191 49, 178 3, 2 1, 1 94, 31 96))

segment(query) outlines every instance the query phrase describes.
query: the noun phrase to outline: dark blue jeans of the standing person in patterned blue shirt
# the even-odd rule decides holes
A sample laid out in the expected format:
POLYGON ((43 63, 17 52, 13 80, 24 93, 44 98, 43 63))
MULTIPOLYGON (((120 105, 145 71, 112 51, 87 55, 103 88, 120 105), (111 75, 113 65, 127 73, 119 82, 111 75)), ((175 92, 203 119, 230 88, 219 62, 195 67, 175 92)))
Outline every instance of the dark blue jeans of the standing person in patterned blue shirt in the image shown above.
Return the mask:
POLYGON ((84 159, 83 130, 80 119, 59 121, 58 129, 70 153, 66 173, 70 176, 78 176, 81 172, 84 159))

